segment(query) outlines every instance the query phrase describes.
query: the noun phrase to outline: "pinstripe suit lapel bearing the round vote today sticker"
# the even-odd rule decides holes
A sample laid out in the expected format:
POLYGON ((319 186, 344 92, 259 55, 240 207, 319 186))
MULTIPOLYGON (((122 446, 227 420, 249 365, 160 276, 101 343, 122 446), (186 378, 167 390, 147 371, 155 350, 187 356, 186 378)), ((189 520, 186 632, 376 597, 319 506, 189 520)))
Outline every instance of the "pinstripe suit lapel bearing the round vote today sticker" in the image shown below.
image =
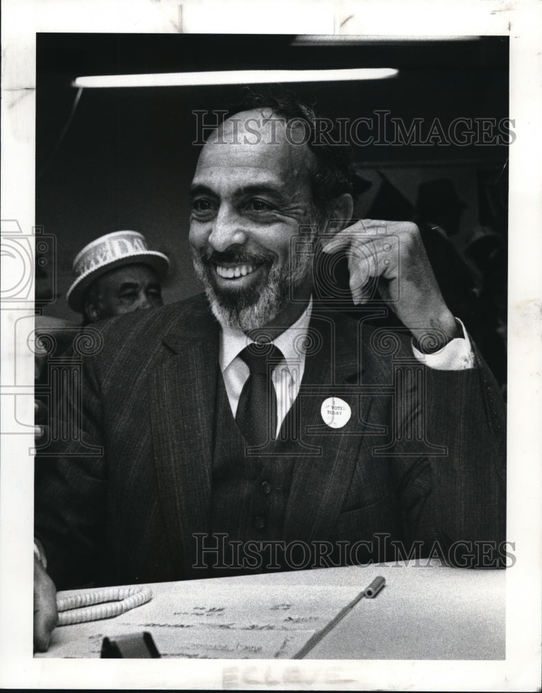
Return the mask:
POLYGON ((342 319, 315 315, 309 329, 320 334, 323 346, 318 353, 307 354, 297 416, 300 439, 320 452, 302 455, 294 463, 284 520, 286 541, 329 536, 350 487, 363 440, 362 422, 370 407, 370 398, 359 396, 361 342, 356 338, 356 323, 349 321, 345 326, 342 319), (322 403, 330 396, 350 405, 352 416, 343 428, 323 423, 322 403))

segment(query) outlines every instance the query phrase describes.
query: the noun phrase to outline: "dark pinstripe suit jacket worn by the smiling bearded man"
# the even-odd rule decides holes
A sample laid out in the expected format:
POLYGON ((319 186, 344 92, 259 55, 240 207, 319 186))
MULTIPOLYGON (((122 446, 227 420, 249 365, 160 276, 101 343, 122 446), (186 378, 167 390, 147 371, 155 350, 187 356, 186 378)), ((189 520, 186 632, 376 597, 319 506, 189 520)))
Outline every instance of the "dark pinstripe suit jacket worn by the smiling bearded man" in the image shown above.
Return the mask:
MULTIPOLYGON (((433 371, 405 333, 316 308, 310 330, 284 540, 503 540, 504 405, 478 354, 476 369, 433 371), (352 408, 338 430, 320 416, 332 394, 352 408)), ((200 577, 187 547, 208 531, 219 326, 195 297, 100 333, 69 405, 77 435, 37 462, 51 575, 57 586, 200 577)))

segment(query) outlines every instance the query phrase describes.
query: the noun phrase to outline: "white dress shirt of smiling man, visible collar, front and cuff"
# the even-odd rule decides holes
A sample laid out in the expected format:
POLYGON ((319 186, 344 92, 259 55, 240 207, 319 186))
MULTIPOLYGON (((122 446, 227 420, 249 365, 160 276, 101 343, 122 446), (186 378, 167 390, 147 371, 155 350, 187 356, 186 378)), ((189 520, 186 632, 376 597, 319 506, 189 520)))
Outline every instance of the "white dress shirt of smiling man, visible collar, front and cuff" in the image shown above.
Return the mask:
MULTIPOLYGON (((305 343, 309 321, 312 312, 312 299, 309 301, 305 312, 294 322, 291 327, 282 332, 273 340, 273 344, 282 351, 284 360, 273 370, 271 381, 277 395, 277 430, 278 436, 282 422, 289 412, 293 401, 299 394, 301 379, 305 371, 305 343)), ((451 340, 445 347, 435 353, 424 354, 412 345, 414 356, 425 363, 429 368, 437 370, 460 371, 473 368, 474 356, 469 342, 467 331, 459 320, 464 338, 451 340)), ((237 405, 246 380, 250 375, 250 369, 240 358, 239 354, 253 340, 247 337, 241 330, 224 327, 220 336, 219 365, 224 378, 226 394, 230 402, 231 411, 235 418, 237 405)))

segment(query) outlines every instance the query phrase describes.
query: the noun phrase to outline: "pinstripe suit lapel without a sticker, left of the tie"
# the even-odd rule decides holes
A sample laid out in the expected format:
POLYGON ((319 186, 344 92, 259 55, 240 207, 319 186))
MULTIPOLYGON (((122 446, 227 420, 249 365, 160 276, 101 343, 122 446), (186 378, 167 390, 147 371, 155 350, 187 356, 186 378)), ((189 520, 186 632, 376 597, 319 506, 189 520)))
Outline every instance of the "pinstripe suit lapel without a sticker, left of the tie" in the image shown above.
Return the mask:
POLYGON ((193 534, 208 532, 219 332, 208 314, 191 318, 189 334, 170 333, 163 340, 169 357, 152 372, 150 412, 174 566, 179 576, 203 577, 192 568, 193 534))

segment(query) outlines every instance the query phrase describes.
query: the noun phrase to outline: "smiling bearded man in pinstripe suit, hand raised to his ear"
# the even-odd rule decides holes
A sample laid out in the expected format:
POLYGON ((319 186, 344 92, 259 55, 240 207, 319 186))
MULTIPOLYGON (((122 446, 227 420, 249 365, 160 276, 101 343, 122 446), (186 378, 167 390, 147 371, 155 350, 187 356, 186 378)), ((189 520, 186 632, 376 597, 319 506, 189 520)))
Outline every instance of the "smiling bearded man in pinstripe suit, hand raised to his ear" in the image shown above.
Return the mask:
POLYGON ((100 328, 72 403, 82 423, 37 475, 36 647, 48 645, 56 587, 435 545, 467 565, 473 542, 503 541, 498 387, 444 304, 417 227, 351 224, 351 162, 311 141, 315 119, 284 101, 227 119, 192 182, 206 297, 100 328), (372 318, 390 306, 399 328, 322 298, 340 254, 354 302, 372 318))

